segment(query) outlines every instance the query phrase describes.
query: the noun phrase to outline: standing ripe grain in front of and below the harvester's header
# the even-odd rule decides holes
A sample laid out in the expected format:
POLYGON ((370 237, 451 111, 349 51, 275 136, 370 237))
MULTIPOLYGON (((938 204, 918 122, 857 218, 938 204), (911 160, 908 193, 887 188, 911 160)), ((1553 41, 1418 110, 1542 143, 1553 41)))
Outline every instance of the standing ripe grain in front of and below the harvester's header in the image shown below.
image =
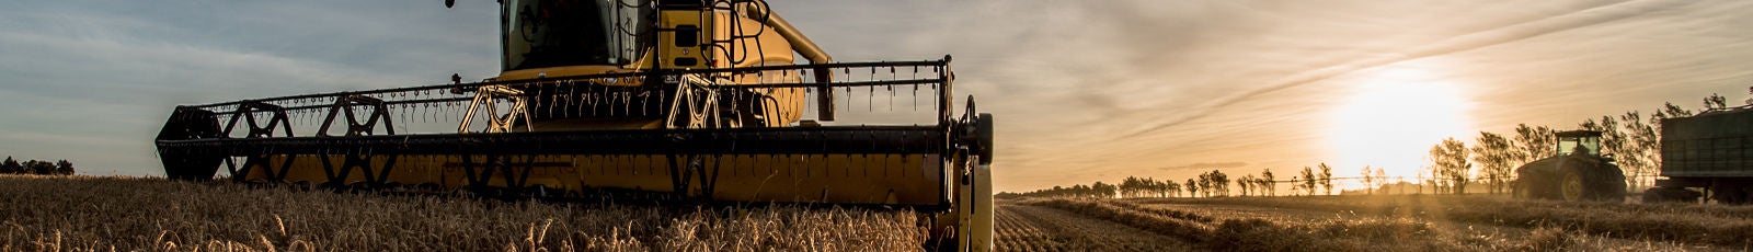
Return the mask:
POLYGON ((0 177, 0 250, 919 250, 906 210, 629 206, 0 177))

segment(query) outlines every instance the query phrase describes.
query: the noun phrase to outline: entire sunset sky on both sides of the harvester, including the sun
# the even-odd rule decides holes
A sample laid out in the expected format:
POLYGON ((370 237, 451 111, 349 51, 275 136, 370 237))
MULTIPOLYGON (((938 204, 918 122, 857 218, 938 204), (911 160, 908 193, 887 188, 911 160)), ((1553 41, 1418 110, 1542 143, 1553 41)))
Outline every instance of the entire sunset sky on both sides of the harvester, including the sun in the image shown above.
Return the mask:
MULTIPOLYGON (((997 191, 1413 175, 1446 136, 1697 108, 1753 86, 1753 2, 773 2, 838 61, 954 56, 997 191)), ((175 105, 498 74, 496 4, 0 2, 0 156, 161 175, 175 105)))

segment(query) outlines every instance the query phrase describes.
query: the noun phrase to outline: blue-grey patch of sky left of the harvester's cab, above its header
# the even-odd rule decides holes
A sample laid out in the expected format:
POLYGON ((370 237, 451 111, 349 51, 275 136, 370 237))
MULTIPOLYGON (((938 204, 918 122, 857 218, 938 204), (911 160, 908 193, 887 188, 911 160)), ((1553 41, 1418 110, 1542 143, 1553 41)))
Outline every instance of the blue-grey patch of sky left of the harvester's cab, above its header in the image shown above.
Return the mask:
POLYGON ((70 159, 95 173, 154 173, 151 135, 175 105, 435 84, 498 65, 493 9, 338 5, 44 2, 0 10, 0 150, 70 159), (447 32, 466 19, 449 14, 475 14, 482 24, 447 32))

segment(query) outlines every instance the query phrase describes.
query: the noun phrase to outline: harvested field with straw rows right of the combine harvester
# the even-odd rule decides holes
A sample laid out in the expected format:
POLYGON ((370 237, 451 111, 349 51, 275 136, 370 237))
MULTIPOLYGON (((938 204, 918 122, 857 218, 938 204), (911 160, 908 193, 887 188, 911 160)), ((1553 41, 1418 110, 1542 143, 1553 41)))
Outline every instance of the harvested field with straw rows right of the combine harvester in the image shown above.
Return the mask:
POLYGON ((1001 250, 1744 250, 1753 243, 1753 208, 1720 205, 1425 194, 1013 198, 997 206, 1001 250))

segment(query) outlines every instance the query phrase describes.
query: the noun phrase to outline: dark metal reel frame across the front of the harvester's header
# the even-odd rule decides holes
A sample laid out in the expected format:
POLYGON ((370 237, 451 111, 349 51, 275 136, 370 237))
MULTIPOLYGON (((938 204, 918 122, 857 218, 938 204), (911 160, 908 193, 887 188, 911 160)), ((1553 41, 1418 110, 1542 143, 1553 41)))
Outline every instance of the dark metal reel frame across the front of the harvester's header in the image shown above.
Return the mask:
MULTIPOLYGON (((861 70, 862 72, 862 70, 861 70)), ((710 198, 717 186, 717 164, 703 163, 703 156, 784 156, 784 154, 940 154, 954 156, 969 149, 989 149, 990 122, 980 124, 973 116, 954 119, 950 112, 952 75, 948 58, 941 61, 896 61, 896 63, 829 63, 829 65, 789 65, 789 66, 750 66, 717 70, 654 70, 643 74, 603 74, 580 77, 556 77, 535 80, 498 80, 475 84, 445 84, 422 88, 396 88, 375 91, 349 91, 328 94, 302 94, 265 100, 245 100, 230 103, 210 103, 179 107, 167 131, 177 131, 182 124, 200 124, 202 114, 230 114, 231 122, 219 135, 163 136, 156 140, 161 156, 167 156, 167 172, 198 170, 205 163, 186 158, 224 158, 224 164, 235 180, 254 170, 268 172, 268 180, 280 182, 298 156, 314 156, 323 163, 328 186, 344 186, 352 170, 365 172, 366 186, 384 186, 396 166, 398 156, 461 156, 463 170, 470 186, 484 189, 494 173, 505 178, 510 189, 528 187, 528 175, 536 168, 538 156, 668 156, 675 191, 682 198, 710 198), (919 79, 868 79, 833 82, 834 72, 852 74, 852 68, 931 68, 933 74, 919 79), (699 128, 699 130, 587 130, 587 131, 515 131, 515 133, 417 133, 396 135, 393 119, 387 114, 391 105, 431 105, 472 100, 426 98, 426 93, 447 93, 452 89, 479 91, 486 86, 503 88, 543 88, 557 84, 594 84, 640 82, 645 88, 673 89, 680 86, 682 75, 727 77, 731 74, 759 74, 770 70, 813 70, 817 82, 787 84, 717 84, 698 86, 706 89, 763 89, 763 88, 810 88, 819 89, 817 98, 833 98, 836 88, 876 88, 876 86, 931 86, 936 91, 936 124, 931 126, 799 126, 799 128, 699 128), (400 98, 400 100, 384 100, 400 98), (366 119, 354 114, 356 107, 366 107, 366 119), (326 108, 321 130, 312 136, 295 136, 286 121, 287 110, 326 108), (217 110, 217 112, 214 112, 217 110), (268 126, 258 126, 254 114, 270 112, 268 126), (345 116, 347 133, 331 136, 330 126, 337 117, 345 116), (238 119, 249 119, 251 133, 244 138, 230 136, 238 119), (386 135, 373 135, 377 126, 384 126, 386 135), (978 130, 976 130, 978 128, 978 130), (280 135, 273 131, 279 130, 280 135), (980 135, 985 131, 985 135, 980 135), (168 159, 175 156, 177 159, 168 159), (268 164, 270 156, 284 156, 286 161, 275 170, 268 164), (342 163, 330 161, 342 156, 342 163), (486 156, 484 163, 475 163, 475 156, 486 156), (242 168, 231 158, 245 158, 242 168), (373 166, 373 158, 387 158, 380 166, 373 166), (517 161, 522 159, 522 161, 517 161), (521 170, 519 170, 521 168, 521 170), (517 172, 514 175, 514 172, 517 172), (687 192, 699 186, 699 194, 687 192)), ((607 86, 605 86, 607 88, 607 86)), ((820 102, 819 119, 833 119, 831 102, 820 102)), ((549 102, 552 103, 552 102, 549 102)), ((973 107, 969 105, 969 110, 973 107)), ((528 108, 526 108, 528 110, 528 108)), ((193 130, 200 131, 200 130, 193 130)), ((449 166, 449 164, 447 164, 449 166)), ((952 180, 945 172, 945 182, 952 180)), ((948 196, 945 186, 945 196, 948 196)), ((945 201, 947 203, 947 201, 945 201)))

